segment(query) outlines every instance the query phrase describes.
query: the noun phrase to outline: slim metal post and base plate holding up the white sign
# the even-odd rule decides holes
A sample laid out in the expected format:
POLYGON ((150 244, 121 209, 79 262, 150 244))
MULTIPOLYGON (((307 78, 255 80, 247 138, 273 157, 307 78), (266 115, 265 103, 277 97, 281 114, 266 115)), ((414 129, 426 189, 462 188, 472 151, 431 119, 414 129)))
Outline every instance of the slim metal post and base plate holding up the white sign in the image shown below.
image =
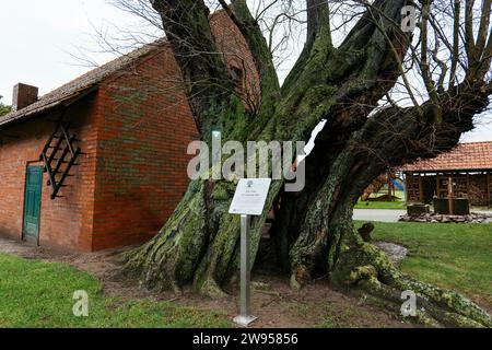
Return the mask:
POLYGON ((257 317, 250 313, 250 272, 249 272, 249 215, 241 215, 241 296, 239 316, 234 322, 247 327, 257 317))

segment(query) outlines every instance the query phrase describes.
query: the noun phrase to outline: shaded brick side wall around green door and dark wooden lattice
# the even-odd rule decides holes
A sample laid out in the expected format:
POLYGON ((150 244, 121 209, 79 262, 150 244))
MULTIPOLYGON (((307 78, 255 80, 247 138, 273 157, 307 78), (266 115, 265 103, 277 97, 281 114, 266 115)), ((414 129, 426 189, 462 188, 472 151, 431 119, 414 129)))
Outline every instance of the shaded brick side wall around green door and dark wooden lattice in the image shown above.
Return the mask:
MULTIPOLYGON (((44 174, 40 207, 40 245, 60 246, 65 249, 91 250, 92 208, 95 171, 94 97, 71 106, 67 116, 73 120, 72 132, 83 140, 80 147, 87 153, 79 158, 70 172, 67 185, 59 195, 63 198, 51 200, 51 187, 44 174)), ((48 116, 49 117, 49 116, 48 116)), ((51 116, 52 117, 52 116, 51 116)), ((54 118, 54 117, 52 117, 54 118)), ((14 238, 22 236, 24 215, 24 187, 26 166, 42 165, 39 154, 55 124, 46 118, 36 118, 26 124, 17 124, 9 129, 19 139, 1 138, 0 144, 0 234, 14 238)), ((5 132, 5 131, 3 131, 5 132)))

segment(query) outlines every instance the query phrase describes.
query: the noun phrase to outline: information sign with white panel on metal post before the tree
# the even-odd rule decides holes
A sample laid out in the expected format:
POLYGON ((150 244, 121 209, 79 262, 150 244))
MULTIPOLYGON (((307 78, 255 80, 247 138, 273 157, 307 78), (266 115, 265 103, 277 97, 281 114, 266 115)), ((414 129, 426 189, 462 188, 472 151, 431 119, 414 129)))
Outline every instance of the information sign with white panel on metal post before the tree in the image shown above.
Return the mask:
POLYGON ((271 178, 243 178, 237 185, 231 208, 232 214, 241 214, 241 294, 239 316, 234 322, 247 327, 257 317, 250 313, 250 260, 249 223, 250 215, 260 215, 263 211, 271 178))

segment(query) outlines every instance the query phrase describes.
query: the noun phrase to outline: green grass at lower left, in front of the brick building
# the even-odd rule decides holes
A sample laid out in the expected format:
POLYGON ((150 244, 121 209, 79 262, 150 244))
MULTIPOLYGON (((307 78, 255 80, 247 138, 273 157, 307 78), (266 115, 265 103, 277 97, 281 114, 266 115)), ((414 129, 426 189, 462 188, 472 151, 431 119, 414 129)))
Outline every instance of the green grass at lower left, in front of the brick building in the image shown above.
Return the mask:
POLYGON ((0 254, 0 327, 231 327, 220 313, 142 299, 103 295, 91 275, 68 265, 0 254), (73 293, 89 294, 89 317, 75 317, 73 293))

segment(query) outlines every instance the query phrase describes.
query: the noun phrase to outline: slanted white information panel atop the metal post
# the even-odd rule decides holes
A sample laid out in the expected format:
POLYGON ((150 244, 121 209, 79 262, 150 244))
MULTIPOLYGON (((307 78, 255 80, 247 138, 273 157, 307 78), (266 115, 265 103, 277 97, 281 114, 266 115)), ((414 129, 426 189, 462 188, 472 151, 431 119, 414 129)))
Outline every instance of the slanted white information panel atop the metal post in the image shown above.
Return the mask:
POLYGON ((231 214, 261 215, 271 178, 242 178, 229 212, 231 214))

